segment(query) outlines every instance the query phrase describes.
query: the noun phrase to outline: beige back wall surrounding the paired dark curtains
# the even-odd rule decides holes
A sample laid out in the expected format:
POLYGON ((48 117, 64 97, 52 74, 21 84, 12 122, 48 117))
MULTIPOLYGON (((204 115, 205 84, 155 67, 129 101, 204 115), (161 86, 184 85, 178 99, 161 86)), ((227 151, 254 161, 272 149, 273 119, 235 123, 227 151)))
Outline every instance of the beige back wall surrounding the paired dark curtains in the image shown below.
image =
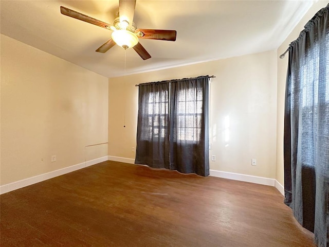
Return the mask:
POLYGON ((276 51, 109 78, 108 155, 135 158, 135 84, 200 75, 216 76, 210 90, 209 150, 216 161, 210 161, 210 169, 275 178, 276 51), (230 119, 228 143, 223 136, 226 116, 230 119), (257 158, 257 166, 251 166, 251 158, 257 158))

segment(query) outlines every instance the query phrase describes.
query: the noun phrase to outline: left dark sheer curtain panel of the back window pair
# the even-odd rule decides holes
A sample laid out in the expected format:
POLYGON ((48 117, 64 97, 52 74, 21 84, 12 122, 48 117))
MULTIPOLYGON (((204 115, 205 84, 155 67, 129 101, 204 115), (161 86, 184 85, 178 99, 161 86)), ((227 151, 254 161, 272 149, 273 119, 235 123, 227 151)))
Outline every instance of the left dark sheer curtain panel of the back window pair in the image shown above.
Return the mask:
POLYGON ((170 169, 169 82, 139 85, 135 164, 170 169))

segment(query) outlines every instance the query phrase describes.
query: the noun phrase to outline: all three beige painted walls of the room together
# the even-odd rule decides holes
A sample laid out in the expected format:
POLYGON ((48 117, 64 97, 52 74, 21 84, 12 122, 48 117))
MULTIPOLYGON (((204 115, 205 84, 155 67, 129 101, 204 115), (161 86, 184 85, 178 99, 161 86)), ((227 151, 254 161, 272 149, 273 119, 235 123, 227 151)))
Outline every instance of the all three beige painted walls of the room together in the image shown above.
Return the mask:
POLYGON ((1 34, 0 184, 107 154, 133 161, 135 84, 207 74, 216 76, 210 94, 210 155, 216 161, 210 168, 283 184, 288 56, 278 56, 326 4, 315 3, 277 51, 110 79, 1 34), (227 116, 230 139, 225 143, 227 116), (86 147, 107 140, 108 146, 86 147), (50 162, 51 155, 57 162, 50 162), (257 158, 257 166, 251 166, 251 158, 257 158))

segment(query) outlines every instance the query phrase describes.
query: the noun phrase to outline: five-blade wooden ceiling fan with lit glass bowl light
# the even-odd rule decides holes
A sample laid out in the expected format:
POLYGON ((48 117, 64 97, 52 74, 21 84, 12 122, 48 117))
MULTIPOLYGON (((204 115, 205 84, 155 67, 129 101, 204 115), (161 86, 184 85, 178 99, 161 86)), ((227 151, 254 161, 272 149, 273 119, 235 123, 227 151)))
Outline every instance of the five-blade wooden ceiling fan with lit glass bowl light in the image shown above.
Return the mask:
POLYGON ((61 13, 113 31, 111 39, 101 45, 96 50, 97 52, 104 53, 117 44, 124 49, 133 48, 143 60, 146 60, 151 58, 151 55, 139 43, 138 39, 175 41, 176 30, 137 28, 133 22, 135 6, 136 0, 119 0, 119 16, 114 20, 113 25, 63 6, 61 6, 61 13))

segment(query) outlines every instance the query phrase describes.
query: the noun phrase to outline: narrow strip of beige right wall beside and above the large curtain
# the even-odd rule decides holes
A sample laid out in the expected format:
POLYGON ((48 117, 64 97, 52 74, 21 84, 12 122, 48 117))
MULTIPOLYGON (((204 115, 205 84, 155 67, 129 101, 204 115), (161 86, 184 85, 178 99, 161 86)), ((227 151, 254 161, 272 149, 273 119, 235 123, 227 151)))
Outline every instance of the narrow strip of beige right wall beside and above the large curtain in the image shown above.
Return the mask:
MULTIPOLYGON (((296 40, 300 31, 304 29, 305 24, 312 19, 312 17, 323 7, 327 5, 327 1, 319 1, 315 3, 308 12, 304 15, 302 20, 298 23, 295 29, 289 34, 287 39, 278 48, 278 56, 288 48, 289 44, 296 40)), ((284 125, 284 97, 285 97, 285 84, 288 67, 288 54, 284 59, 278 57, 278 85, 277 85, 277 168, 276 179, 283 185, 284 184, 284 169, 283 169, 283 125, 284 125)))

